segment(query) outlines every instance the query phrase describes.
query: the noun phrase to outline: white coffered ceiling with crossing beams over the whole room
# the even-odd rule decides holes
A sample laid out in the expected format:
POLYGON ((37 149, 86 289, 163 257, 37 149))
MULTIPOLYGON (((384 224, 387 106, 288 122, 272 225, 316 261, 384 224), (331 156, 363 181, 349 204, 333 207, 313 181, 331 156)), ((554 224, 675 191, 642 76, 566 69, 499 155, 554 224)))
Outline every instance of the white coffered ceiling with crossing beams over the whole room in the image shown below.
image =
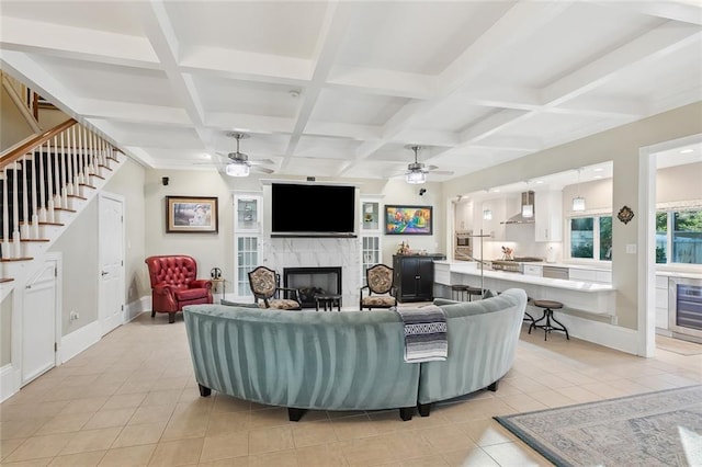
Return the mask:
POLYGON ((702 101, 697 1, 0 1, 3 70, 141 163, 443 181, 702 101), (446 173, 448 172, 448 173, 446 173))

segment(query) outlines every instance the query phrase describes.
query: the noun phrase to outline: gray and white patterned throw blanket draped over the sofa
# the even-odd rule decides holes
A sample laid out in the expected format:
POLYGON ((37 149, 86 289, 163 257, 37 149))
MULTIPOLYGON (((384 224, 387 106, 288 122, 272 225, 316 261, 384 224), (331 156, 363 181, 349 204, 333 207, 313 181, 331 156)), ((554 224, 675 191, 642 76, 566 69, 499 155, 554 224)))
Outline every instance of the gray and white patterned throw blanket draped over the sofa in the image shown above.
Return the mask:
POLYGON ((446 317, 435 305, 395 308, 405 324, 405 362, 446 360, 446 317))

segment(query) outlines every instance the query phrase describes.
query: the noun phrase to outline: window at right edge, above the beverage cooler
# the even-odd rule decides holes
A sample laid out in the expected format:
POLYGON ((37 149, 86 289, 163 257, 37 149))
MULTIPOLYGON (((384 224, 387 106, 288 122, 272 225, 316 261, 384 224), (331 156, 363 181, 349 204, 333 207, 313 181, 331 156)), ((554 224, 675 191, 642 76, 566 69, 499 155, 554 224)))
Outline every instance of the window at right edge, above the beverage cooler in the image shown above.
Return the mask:
POLYGON ((702 209, 656 213, 656 263, 702 264, 702 209))

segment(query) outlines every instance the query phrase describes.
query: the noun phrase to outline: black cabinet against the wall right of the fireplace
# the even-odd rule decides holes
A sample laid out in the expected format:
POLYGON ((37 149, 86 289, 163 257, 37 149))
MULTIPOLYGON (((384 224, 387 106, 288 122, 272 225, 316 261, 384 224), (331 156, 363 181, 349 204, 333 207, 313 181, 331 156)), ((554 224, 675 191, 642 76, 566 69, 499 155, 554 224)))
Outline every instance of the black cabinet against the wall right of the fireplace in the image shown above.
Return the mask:
POLYGON ((434 288, 434 260, 437 255, 393 255, 393 273, 397 301, 431 301, 434 288))

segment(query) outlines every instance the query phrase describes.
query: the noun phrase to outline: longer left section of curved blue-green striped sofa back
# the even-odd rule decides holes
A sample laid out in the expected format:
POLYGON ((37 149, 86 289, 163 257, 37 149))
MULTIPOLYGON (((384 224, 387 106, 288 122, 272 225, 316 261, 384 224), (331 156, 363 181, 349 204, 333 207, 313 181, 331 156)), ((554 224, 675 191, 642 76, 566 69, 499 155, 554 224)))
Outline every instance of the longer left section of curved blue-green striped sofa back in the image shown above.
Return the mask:
POLYGON ((183 310, 199 384, 299 409, 417 403, 419 365, 404 362, 395 311, 283 311, 223 305, 183 310))

